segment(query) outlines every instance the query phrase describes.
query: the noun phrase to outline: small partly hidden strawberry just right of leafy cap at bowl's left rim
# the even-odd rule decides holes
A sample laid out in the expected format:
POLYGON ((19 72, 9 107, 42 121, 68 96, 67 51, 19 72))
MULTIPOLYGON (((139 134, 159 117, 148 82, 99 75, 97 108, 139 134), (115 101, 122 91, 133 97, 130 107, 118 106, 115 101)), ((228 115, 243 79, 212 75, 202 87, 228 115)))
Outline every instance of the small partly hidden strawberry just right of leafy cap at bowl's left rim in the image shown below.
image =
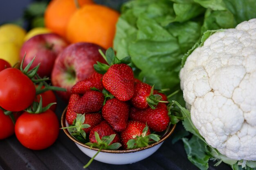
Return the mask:
POLYGON ((100 113, 86 113, 85 114, 85 121, 83 124, 88 124, 90 125, 89 128, 83 128, 85 133, 90 133, 91 129, 98 125, 102 121, 102 116, 100 113))

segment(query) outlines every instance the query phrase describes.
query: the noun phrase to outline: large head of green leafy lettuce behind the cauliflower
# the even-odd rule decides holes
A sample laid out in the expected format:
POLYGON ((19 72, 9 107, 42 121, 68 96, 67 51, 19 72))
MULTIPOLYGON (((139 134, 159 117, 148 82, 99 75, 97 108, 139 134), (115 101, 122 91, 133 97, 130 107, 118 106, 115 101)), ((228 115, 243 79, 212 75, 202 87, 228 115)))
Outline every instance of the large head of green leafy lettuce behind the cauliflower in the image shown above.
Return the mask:
MULTIPOLYGON (((204 31, 234 28, 256 18, 254 9, 254 0, 130 0, 121 8, 114 49, 119 59, 131 56, 136 77, 173 93, 182 56, 204 31)), ((184 104, 181 91, 173 99, 184 104)))

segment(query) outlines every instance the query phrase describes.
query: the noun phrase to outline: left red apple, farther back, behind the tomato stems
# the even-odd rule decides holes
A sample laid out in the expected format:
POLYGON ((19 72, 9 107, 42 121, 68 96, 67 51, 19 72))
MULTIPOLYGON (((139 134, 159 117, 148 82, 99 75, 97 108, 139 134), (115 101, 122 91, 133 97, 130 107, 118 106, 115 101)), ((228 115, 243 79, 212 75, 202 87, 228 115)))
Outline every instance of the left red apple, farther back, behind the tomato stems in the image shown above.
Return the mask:
POLYGON ((40 63, 38 75, 50 77, 57 55, 68 46, 64 38, 56 33, 39 34, 27 40, 20 49, 20 62, 26 54, 23 68, 36 56, 30 68, 40 63))

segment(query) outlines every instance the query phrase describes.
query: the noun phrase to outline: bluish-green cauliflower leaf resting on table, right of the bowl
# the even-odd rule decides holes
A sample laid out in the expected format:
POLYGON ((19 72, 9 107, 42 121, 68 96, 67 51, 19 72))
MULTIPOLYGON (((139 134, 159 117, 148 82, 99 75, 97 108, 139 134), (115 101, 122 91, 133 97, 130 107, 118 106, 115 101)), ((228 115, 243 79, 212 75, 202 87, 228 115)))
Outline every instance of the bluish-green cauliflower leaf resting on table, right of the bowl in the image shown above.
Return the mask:
POLYGON ((206 150, 207 144, 195 136, 191 139, 183 138, 182 141, 189 161, 200 170, 207 170, 209 168, 208 161, 211 158, 206 150))

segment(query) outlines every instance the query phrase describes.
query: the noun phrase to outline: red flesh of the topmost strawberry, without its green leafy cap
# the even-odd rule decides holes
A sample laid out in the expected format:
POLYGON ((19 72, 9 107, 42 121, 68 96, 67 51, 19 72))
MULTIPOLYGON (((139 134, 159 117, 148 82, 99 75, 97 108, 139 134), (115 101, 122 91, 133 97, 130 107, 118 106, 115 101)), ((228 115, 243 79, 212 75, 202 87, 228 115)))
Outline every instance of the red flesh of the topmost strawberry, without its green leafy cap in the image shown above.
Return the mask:
POLYGON ((113 64, 102 78, 103 86, 120 101, 128 101, 134 93, 134 75, 127 64, 113 64))

